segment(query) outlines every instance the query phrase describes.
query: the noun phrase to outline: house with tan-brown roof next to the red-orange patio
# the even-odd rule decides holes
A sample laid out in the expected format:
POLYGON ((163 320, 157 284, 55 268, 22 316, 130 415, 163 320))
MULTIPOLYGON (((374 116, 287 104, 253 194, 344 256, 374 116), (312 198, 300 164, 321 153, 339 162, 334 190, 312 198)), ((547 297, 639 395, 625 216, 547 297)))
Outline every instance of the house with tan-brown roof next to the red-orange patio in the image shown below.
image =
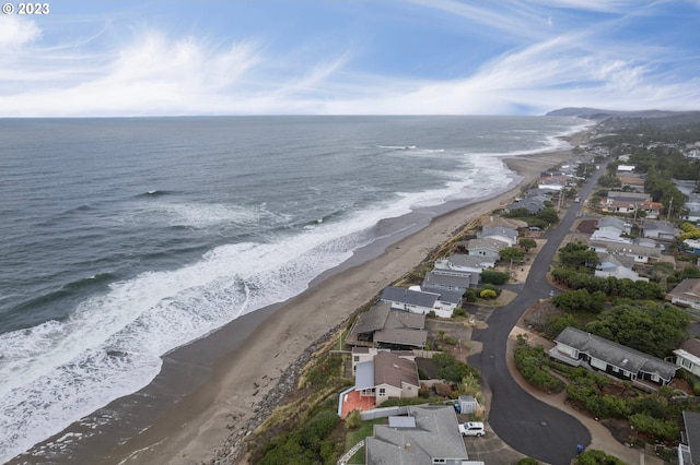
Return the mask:
POLYGON ((354 391, 374 397, 377 406, 389 398, 418 397, 419 389, 416 360, 381 350, 372 360, 355 365, 354 391))

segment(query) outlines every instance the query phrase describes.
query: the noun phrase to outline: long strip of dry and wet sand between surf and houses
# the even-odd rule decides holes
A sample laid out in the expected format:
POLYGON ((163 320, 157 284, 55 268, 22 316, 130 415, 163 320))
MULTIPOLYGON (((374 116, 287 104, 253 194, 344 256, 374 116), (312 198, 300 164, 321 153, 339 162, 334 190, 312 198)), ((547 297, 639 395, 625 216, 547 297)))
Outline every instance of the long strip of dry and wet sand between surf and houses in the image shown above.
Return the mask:
MULTIPOLYGON (((587 131, 567 139, 579 141, 585 133, 587 131)), ((575 144, 572 142, 572 146, 575 144)), ((107 440, 114 442, 114 438, 106 436, 115 432, 118 436, 118 431, 107 427, 105 437, 86 439, 85 445, 79 446, 72 458, 84 456, 94 462, 100 457, 97 461, 109 464, 191 464, 228 457, 232 449, 242 444, 242 438, 269 415, 284 393, 295 389, 295 378, 305 365, 305 354, 313 353, 359 307, 416 267, 456 230, 506 204, 541 170, 570 154, 570 150, 561 150, 501 157, 521 178, 512 182, 506 192, 439 213, 430 224, 386 245, 383 251, 375 254, 360 252, 358 257, 353 255, 354 260, 322 273, 299 296, 248 313, 167 354, 163 357, 161 374, 149 386, 101 409, 130 408, 135 425, 153 414, 148 421, 151 426, 137 436, 125 438, 117 446, 109 444, 107 440), (189 393, 182 395, 182 392, 189 393), (137 403, 140 404, 135 406, 137 403)), ((100 418, 101 410, 93 416, 100 418)), ((129 420, 119 418, 116 422, 129 420)), ((73 427, 67 431, 71 429, 73 427)), ((51 440, 56 441, 56 437, 43 443, 51 440)), ((20 455, 11 463, 30 457, 37 456, 20 455)))

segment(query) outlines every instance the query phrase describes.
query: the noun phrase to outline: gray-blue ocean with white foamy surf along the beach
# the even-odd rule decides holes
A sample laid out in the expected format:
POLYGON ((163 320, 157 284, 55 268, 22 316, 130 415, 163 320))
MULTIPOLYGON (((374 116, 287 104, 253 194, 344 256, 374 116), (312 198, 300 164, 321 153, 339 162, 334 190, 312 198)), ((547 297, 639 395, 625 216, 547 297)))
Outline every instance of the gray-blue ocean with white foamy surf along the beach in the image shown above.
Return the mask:
POLYGON ((559 136, 584 127, 1 119, 0 462, 148 385, 163 355, 411 226, 392 218, 505 191, 517 179, 502 156, 565 147, 559 136))

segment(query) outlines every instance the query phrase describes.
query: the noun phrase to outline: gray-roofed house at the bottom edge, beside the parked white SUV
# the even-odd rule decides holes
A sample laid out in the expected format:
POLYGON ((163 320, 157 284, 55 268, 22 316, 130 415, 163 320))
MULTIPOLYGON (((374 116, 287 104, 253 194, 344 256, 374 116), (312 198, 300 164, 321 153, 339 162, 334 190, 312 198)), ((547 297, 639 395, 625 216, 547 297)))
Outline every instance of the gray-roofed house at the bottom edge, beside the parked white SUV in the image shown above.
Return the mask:
POLYGON ((469 460, 454 408, 408 408, 408 417, 389 417, 388 425, 374 426, 364 441, 364 463, 463 465, 469 460))

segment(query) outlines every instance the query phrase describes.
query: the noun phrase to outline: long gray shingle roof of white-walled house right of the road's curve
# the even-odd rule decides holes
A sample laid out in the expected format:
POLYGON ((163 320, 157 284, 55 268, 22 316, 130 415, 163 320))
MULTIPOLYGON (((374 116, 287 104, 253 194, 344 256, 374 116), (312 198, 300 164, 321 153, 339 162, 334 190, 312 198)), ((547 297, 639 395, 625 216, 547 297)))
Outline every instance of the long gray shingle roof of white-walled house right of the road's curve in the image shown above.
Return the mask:
POLYGON ((555 342, 574 347, 581 353, 634 374, 658 374, 669 381, 678 369, 674 363, 571 326, 559 333, 555 342))

